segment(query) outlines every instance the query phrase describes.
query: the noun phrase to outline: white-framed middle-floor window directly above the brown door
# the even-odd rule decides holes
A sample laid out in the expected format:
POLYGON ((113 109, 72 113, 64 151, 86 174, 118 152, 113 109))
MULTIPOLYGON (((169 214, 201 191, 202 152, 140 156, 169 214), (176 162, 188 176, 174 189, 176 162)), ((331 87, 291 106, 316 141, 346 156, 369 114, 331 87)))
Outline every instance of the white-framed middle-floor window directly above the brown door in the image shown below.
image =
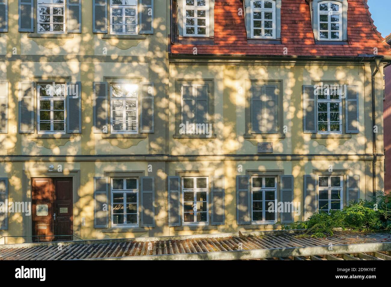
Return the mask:
POLYGON ((37 84, 37 122, 39 134, 65 134, 66 85, 37 84))

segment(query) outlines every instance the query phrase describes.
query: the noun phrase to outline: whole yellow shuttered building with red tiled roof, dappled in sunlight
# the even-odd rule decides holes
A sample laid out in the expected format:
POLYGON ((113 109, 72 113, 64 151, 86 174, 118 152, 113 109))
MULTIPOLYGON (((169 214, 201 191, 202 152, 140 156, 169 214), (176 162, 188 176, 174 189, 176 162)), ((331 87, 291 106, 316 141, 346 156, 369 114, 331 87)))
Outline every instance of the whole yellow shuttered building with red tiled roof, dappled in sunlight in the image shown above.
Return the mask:
POLYGON ((276 229, 384 189, 365 0, 0 6, 0 244, 276 229))

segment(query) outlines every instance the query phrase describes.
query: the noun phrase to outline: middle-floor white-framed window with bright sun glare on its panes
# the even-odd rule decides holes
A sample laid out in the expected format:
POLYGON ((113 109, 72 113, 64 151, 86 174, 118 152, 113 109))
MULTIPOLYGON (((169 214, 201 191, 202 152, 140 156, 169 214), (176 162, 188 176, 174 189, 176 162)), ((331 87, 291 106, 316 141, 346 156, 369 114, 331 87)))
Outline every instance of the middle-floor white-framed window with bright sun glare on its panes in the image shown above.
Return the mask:
POLYGON ((138 85, 110 85, 111 133, 138 133, 138 85))

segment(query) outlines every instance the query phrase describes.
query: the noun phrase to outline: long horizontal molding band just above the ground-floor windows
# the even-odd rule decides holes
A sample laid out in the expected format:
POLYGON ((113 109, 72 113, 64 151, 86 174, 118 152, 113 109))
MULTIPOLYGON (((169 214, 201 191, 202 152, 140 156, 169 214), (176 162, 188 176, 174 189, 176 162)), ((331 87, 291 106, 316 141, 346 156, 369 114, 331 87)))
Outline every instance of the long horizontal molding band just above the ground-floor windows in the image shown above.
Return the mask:
MULTIPOLYGON (((382 159, 383 154, 377 154, 382 159)), ((18 156, 5 155, 0 157, 0 162, 24 162, 24 161, 224 161, 224 160, 364 160, 372 161, 373 154, 231 154, 231 155, 163 155, 163 154, 142 154, 142 155, 34 155, 18 156)))

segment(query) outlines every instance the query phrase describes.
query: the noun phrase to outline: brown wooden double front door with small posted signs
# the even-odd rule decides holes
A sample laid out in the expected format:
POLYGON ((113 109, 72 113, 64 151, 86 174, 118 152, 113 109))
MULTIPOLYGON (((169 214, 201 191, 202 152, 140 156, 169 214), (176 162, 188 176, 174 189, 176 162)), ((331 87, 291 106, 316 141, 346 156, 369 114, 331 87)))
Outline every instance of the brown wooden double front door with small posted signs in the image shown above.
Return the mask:
POLYGON ((33 178, 33 241, 72 240, 72 236, 59 236, 72 234, 72 178, 33 178))

